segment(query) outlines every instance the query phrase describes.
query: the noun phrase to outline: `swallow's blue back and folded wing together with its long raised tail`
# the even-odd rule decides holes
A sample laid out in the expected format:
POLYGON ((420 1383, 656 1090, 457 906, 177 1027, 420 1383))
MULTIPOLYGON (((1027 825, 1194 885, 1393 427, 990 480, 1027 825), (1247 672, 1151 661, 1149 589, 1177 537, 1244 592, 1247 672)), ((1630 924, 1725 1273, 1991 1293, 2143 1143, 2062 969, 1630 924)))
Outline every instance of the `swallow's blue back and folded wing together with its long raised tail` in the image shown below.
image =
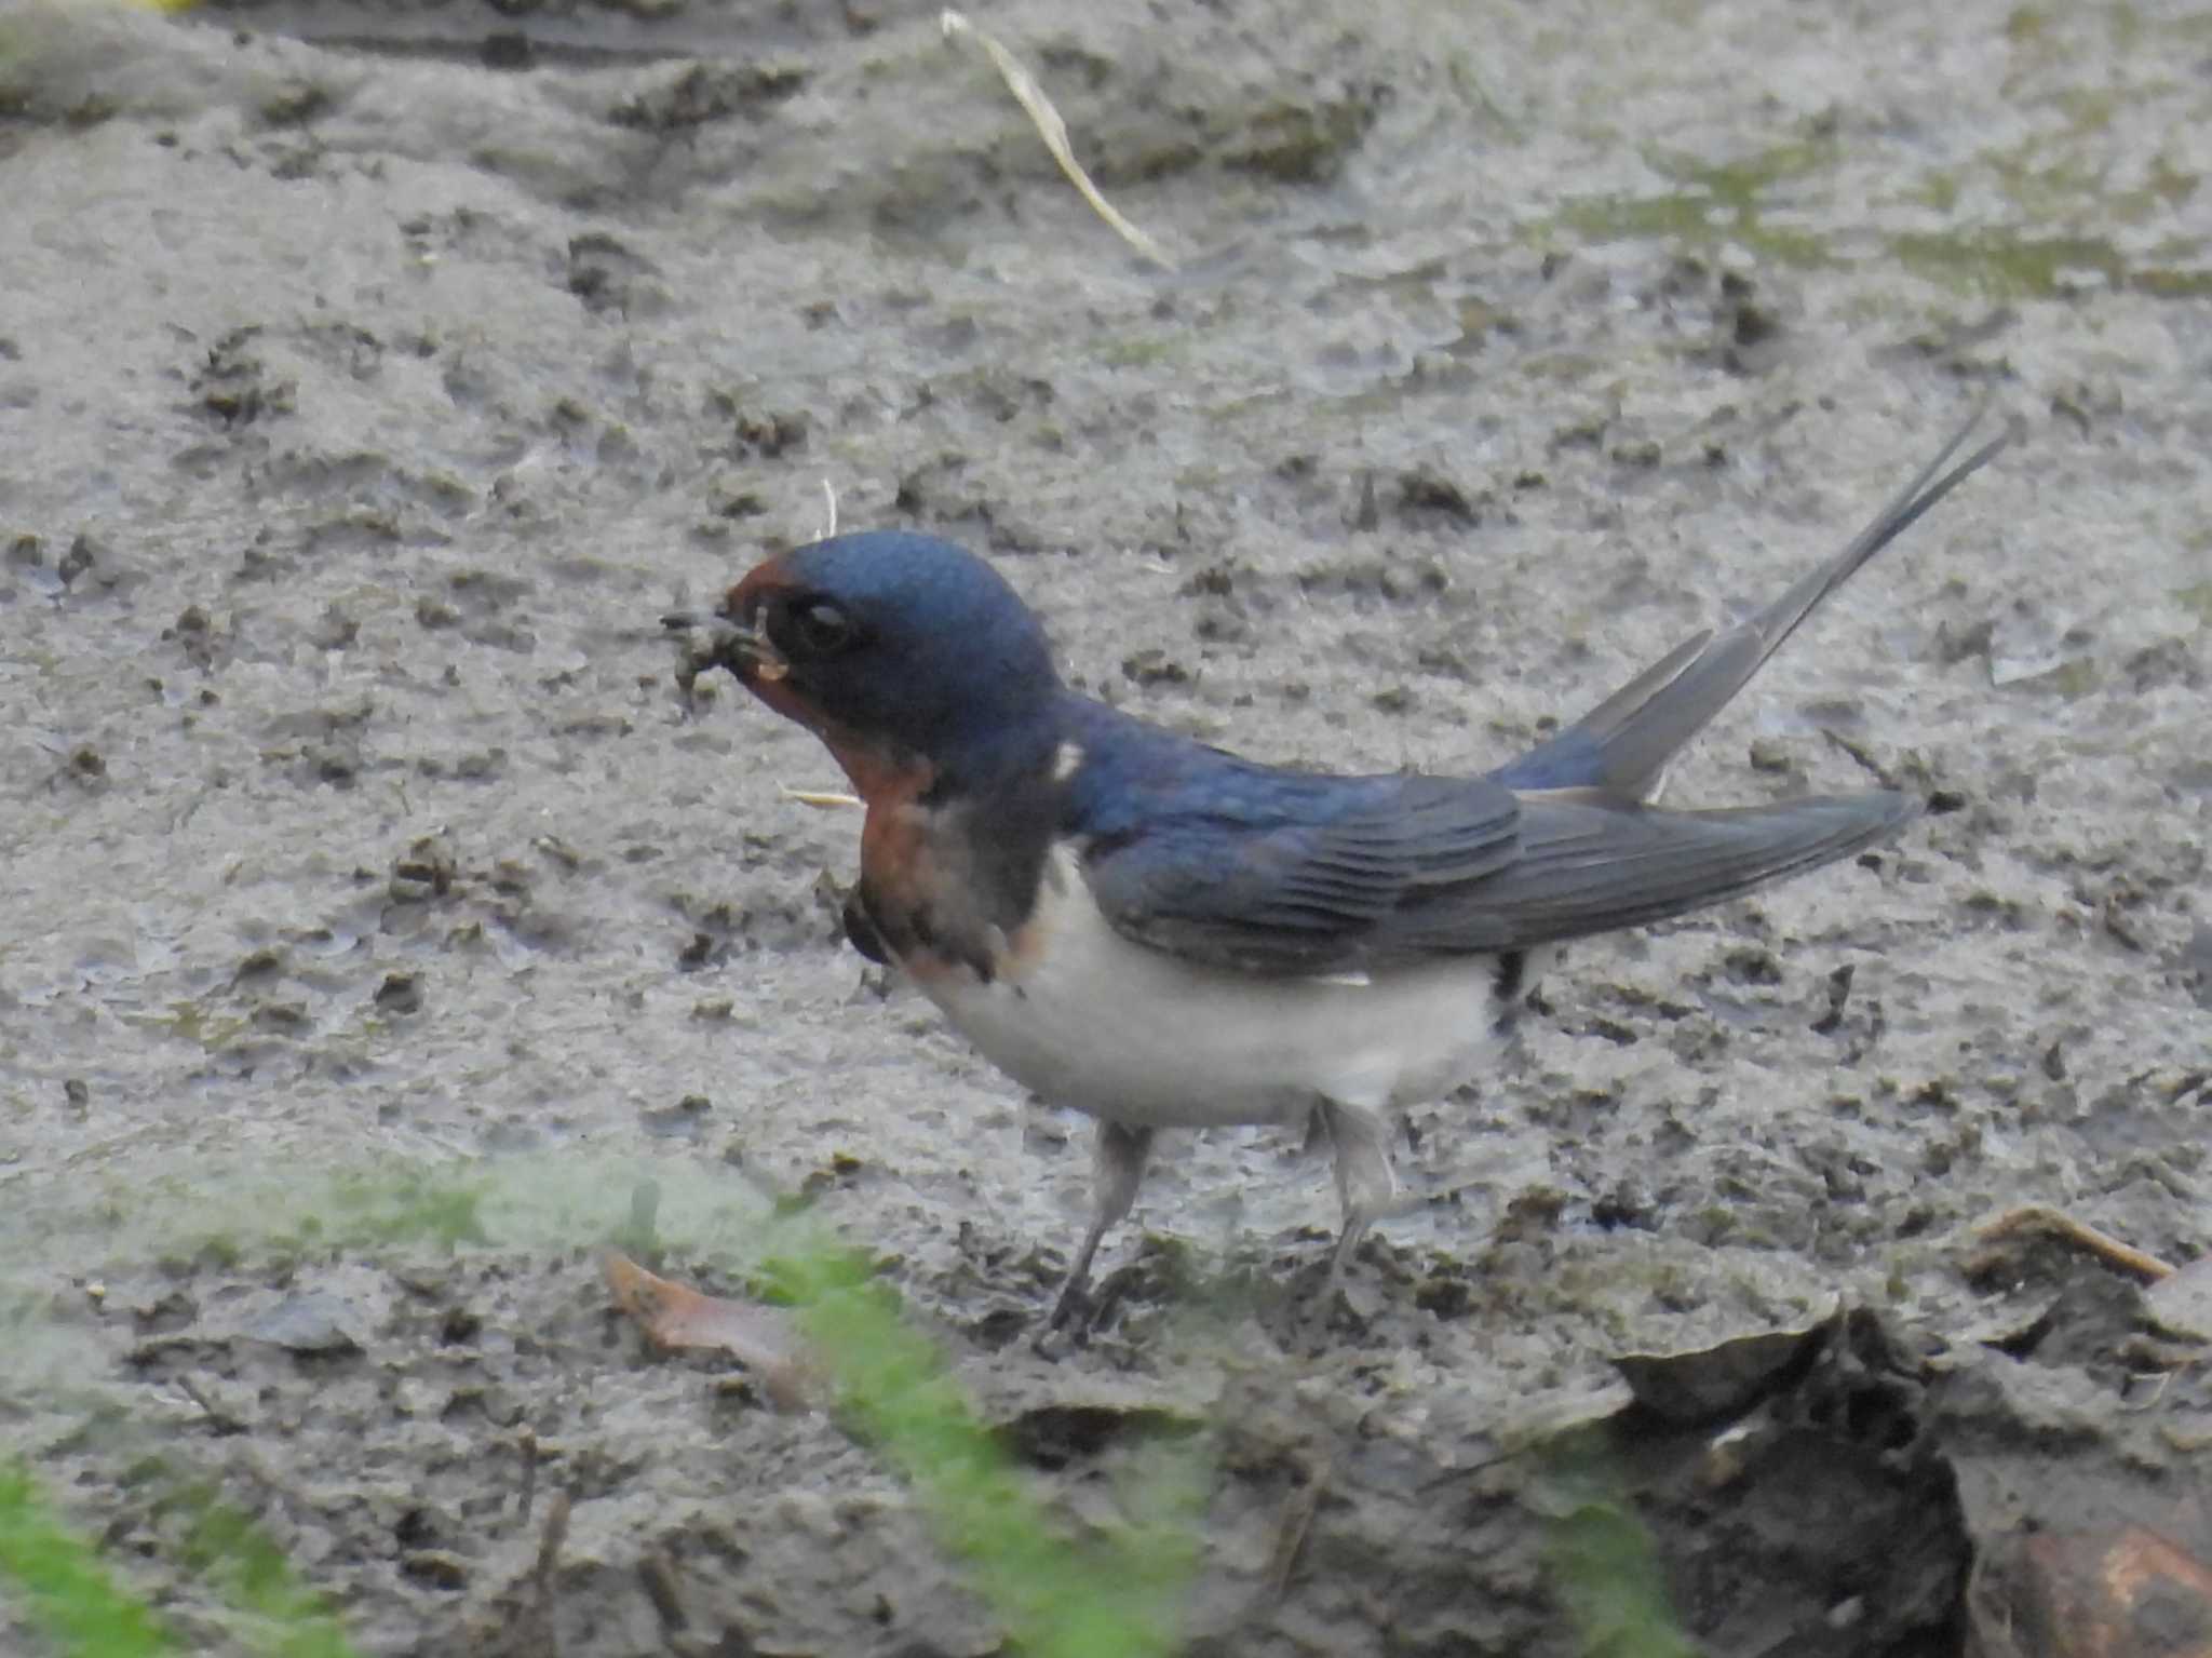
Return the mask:
POLYGON ((1106 920, 1248 973, 1347 973, 1681 915, 1847 858, 1900 794, 1659 811, 1666 767, 1854 570, 2004 447, 1942 453, 1776 604, 1699 634, 1486 778, 1283 772, 1071 699, 1062 831, 1106 920))

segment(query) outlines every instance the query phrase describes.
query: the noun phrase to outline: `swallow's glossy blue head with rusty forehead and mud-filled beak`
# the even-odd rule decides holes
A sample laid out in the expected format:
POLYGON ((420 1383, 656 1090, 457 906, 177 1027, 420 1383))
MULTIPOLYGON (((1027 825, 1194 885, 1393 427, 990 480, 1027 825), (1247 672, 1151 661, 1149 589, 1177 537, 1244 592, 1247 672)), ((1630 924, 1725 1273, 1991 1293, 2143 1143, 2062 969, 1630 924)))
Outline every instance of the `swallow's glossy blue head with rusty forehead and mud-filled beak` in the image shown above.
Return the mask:
POLYGON ((779 714, 865 772, 942 774, 1042 725, 1060 694, 1044 630, 1000 575, 949 542, 869 531, 757 566, 699 628, 779 714))

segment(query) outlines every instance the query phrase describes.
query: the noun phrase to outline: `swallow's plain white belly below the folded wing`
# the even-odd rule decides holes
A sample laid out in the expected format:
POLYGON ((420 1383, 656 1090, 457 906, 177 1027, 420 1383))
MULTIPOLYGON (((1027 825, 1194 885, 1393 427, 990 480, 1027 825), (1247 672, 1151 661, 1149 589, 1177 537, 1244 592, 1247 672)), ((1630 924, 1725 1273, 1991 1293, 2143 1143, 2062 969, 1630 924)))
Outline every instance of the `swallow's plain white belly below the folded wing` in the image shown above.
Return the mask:
POLYGON ((1436 1099, 1493 1052, 1493 957, 1371 979, 1261 979, 1115 933, 1073 858, 1044 882, 1046 944, 984 984, 918 975, 982 1054, 1055 1105, 1141 1127, 1303 1119, 1316 1096, 1436 1099))

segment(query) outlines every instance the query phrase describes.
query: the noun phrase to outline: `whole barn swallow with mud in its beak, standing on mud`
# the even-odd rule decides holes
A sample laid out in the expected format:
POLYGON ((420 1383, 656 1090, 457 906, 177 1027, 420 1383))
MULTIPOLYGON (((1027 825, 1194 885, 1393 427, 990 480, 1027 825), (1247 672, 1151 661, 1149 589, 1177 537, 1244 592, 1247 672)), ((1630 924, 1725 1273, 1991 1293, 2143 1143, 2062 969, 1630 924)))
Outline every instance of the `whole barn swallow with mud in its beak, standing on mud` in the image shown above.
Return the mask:
POLYGON ((1091 1227, 1048 1329, 1170 1125, 1334 1145, 1332 1273, 1398 1198, 1391 1114, 1473 1079, 1551 946, 1849 858, 1893 791, 1659 809, 1677 752, 1807 615, 1986 464, 1969 422, 1781 599, 1677 646, 1484 776, 1261 765, 1068 690, 982 559, 907 531, 779 553, 690 632, 814 732, 867 807, 845 928, 1024 1088, 1097 1119, 1091 1227))

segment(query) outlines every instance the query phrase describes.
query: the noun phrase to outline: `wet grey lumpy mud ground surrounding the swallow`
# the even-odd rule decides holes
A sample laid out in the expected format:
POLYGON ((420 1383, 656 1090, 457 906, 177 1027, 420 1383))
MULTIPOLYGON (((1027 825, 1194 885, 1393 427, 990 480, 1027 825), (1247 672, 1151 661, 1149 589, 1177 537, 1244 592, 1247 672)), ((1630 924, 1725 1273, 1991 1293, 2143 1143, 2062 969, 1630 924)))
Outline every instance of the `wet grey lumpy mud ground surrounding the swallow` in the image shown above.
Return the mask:
POLYGON ((1177 272, 918 4, 0 9, 0 1444, 195 1651, 177 1479, 372 1654, 991 1651, 834 1417, 608 1309, 646 1185, 717 1287, 803 1194, 1071 1525, 1201 1430, 1206 1651, 1624 1649, 1639 1539, 1714 1654, 2097 1651, 2066 1561, 2212 1561, 2212 1331, 1973 1229, 2212 1240, 2203 15, 980 20, 1177 272), (2017 447, 1672 785, 1938 809, 1573 951, 1318 1355, 1325 1167, 1223 1132, 1035 1357, 1086 1125, 838 946, 827 758, 655 617, 827 482, 1097 694, 1480 767, 1982 398, 2017 447))

